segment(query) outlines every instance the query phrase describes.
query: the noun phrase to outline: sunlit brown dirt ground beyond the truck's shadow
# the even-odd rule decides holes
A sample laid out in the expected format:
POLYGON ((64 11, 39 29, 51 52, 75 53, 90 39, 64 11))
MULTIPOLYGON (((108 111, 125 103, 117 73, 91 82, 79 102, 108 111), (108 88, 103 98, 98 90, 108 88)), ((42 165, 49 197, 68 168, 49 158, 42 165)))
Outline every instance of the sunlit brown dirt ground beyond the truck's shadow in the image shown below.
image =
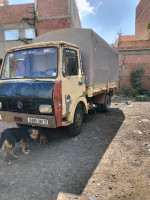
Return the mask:
MULTIPOLYGON (((124 120, 83 193, 58 200, 150 200, 150 102, 116 97, 111 109, 124 120)), ((120 121, 112 117, 110 129, 120 121)))

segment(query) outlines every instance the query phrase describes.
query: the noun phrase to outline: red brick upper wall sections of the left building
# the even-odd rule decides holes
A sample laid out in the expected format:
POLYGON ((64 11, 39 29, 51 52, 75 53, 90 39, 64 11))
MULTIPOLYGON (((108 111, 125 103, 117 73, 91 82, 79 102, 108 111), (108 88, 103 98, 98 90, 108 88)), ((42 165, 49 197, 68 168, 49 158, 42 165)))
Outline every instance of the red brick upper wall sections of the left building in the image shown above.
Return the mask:
MULTIPOLYGON (((37 0, 37 36, 62 28, 71 28, 71 15, 68 0, 37 0), (69 16, 69 17, 68 17, 69 16)), ((22 23, 23 18, 33 18, 34 4, 10 5, 0 7, 0 25, 22 23)))

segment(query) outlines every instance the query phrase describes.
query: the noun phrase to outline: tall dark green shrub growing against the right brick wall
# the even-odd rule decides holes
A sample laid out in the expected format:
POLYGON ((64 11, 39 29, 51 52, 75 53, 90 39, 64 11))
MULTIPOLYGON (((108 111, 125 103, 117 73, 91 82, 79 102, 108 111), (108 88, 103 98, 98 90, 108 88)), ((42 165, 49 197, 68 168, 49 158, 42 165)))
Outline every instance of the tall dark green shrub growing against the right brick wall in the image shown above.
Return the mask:
POLYGON ((131 85, 139 93, 141 93, 143 89, 143 84, 144 84, 143 75, 144 74, 145 74, 144 66, 138 66, 137 68, 133 69, 130 73, 131 85))

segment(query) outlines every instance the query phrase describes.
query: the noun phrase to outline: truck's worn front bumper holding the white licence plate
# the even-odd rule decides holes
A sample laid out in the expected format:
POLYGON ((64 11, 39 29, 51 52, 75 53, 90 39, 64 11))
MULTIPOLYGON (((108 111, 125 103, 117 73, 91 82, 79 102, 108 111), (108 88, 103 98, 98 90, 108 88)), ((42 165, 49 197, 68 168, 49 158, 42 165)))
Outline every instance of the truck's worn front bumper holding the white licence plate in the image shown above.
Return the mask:
POLYGON ((14 122, 18 124, 26 124, 31 126, 40 126, 47 128, 56 128, 55 116, 35 115, 28 113, 17 113, 0 111, 0 121, 14 122))

